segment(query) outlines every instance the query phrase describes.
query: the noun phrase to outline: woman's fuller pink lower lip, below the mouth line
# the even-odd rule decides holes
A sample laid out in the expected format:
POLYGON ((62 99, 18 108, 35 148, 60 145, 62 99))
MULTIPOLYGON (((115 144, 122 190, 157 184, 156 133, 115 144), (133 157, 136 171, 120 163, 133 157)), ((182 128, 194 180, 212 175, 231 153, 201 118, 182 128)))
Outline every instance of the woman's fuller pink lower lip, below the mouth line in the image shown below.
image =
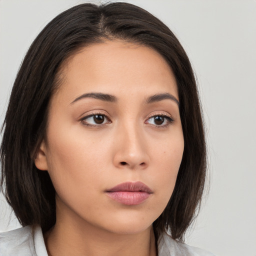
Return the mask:
POLYGON ((144 191, 114 191, 106 193, 110 198, 126 205, 140 204, 150 195, 150 193, 144 191))

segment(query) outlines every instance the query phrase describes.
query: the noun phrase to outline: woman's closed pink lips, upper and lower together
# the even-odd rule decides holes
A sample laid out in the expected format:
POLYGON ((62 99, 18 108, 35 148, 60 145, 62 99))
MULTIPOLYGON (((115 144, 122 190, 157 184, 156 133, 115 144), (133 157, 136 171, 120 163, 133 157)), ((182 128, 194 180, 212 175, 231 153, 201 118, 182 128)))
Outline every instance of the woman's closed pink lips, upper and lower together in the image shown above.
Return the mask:
POLYGON ((140 204, 152 194, 152 190, 140 181, 124 182, 105 192, 113 200, 126 205, 140 204))

